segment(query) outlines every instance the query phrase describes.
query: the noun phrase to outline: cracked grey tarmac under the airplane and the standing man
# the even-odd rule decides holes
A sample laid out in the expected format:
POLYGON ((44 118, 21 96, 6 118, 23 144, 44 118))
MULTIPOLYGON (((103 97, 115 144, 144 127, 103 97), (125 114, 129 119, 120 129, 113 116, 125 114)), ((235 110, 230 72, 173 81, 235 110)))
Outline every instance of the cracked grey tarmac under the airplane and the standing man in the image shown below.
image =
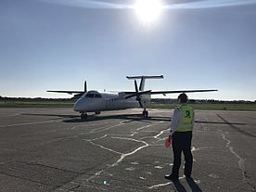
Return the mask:
POLYGON ((256 191, 256 112, 196 110, 191 180, 164 178, 171 109, 0 109, 0 191, 256 191))

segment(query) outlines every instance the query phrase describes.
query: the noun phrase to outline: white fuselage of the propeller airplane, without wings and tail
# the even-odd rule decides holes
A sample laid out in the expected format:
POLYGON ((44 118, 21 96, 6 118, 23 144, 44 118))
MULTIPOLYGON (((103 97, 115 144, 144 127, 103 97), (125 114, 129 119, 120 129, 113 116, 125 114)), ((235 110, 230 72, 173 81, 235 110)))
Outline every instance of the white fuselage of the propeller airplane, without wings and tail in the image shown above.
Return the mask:
MULTIPOLYGON (((125 99, 126 95, 122 92, 99 93, 97 91, 89 91, 81 96, 74 104, 73 109, 78 112, 99 112, 104 110, 130 109, 140 107, 135 97, 125 99)), ((142 97, 143 104, 147 105, 150 95, 142 97)))

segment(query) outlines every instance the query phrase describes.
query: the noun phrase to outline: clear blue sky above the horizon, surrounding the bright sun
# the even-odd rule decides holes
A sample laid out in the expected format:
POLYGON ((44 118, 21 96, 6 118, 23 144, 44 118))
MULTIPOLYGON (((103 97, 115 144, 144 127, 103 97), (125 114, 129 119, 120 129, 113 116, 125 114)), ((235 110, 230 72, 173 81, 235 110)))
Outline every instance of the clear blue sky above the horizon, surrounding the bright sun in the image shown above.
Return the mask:
POLYGON ((152 22, 136 2, 1 0, 0 96, 71 97, 46 90, 83 90, 84 80, 89 90, 133 91, 127 75, 162 74, 146 88, 256 100, 256 0, 161 0, 152 22))

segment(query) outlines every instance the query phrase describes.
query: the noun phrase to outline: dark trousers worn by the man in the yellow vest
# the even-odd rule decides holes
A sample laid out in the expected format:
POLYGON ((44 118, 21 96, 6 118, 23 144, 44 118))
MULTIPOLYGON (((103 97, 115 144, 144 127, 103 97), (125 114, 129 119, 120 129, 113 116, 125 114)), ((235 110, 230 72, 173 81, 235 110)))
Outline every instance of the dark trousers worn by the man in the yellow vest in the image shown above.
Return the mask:
POLYGON ((186 177, 191 176, 193 156, 191 153, 192 132, 175 132, 173 134, 173 171, 174 178, 179 178, 179 169, 181 166, 181 154, 185 156, 185 171, 186 177))

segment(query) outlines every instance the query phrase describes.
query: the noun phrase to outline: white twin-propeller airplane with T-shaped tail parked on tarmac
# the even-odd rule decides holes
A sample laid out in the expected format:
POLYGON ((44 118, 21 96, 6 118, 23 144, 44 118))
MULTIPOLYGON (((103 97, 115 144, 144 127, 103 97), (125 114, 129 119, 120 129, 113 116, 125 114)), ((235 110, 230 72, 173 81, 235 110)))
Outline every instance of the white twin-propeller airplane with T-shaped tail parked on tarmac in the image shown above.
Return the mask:
POLYGON ((163 75, 150 76, 126 76, 128 80, 134 80, 135 91, 122 91, 118 93, 99 92, 96 90, 87 91, 86 81, 84 82, 83 91, 55 91, 48 90, 47 92, 75 94, 79 99, 74 103, 74 111, 81 113, 81 119, 88 117, 88 112, 95 112, 96 115, 101 111, 120 110, 131 108, 142 108, 143 117, 148 117, 147 106, 150 102, 151 95, 177 94, 177 93, 195 93, 195 92, 212 92, 216 89, 204 90, 181 90, 181 91, 152 91, 145 90, 145 82, 147 79, 163 79, 163 75), (138 87, 136 80, 140 79, 138 87))

